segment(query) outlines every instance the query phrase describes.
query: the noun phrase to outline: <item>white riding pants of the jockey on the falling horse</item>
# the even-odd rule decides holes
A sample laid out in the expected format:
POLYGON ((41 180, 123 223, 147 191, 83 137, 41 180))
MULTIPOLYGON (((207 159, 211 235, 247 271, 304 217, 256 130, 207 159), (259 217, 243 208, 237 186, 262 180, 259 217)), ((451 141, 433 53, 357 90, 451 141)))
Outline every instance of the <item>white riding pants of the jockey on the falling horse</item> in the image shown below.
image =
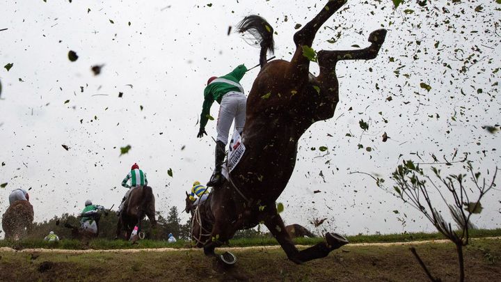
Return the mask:
POLYGON ((219 107, 217 120, 217 141, 228 144, 228 134, 234 120, 234 129, 238 132, 244 130, 247 98, 244 93, 230 91, 223 96, 219 107))

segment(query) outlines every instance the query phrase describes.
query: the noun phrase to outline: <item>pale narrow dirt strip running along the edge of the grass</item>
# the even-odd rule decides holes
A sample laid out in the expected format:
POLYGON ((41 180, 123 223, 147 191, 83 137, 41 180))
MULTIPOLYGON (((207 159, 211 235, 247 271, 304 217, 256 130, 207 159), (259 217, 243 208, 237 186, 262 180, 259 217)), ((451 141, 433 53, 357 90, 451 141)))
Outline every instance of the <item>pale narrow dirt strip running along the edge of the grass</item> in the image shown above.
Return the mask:
MULTIPOLYGON (((486 237, 482 238, 486 240, 500 240, 501 237, 486 237)), ((476 238, 472 238, 470 240, 477 240, 476 238)), ((396 245, 417 245, 417 244, 443 244, 448 243, 449 240, 427 240, 427 241, 411 241, 411 242, 393 242, 393 243, 355 243, 348 244, 347 246, 396 246, 396 245)), ((299 249, 305 249, 308 246, 305 245, 296 245, 299 249)), ((262 249, 280 249, 280 246, 244 246, 244 247, 225 247, 218 248, 222 251, 245 251, 245 250, 262 250, 262 249)), ((87 249, 87 250, 71 250, 71 249, 20 249, 16 250, 9 247, 1 247, 0 252, 3 251, 13 251, 13 252, 45 252, 45 253, 138 253, 141 251, 151 251, 151 252, 169 252, 169 251, 202 251, 202 249, 195 248, 157 248, 157 249, 87 249)))

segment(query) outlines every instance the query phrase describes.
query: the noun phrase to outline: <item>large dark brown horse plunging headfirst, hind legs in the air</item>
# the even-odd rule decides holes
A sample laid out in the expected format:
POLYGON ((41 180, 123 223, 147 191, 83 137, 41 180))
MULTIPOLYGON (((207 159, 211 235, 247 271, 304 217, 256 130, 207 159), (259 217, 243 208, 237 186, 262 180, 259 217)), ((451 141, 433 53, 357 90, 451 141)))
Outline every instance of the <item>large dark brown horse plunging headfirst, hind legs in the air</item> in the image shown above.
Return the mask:
POLYGON ((204 210, 214 220, 202 217, 201 224, 193 224, 211 230, 209 235, 192 230, 192 237, 202 238, 207 256, 216 256, 214 249, 237 230, 253 228, 260 221, 264 221, 294 263, 323 258, 347 244, 344 237, 326 233, 326 242, 299 251, 276 210, 276 200, 294 171, 299 138, 313 123, 334 116, 339 101, 336 63, 376 58, 385 40, 386 31, 379 29, 369 35, 372 44, 365 49, 319 51, 319 75, 310 75, 310 61, 303 49, 312 46, 320 26, 344 3, 345 0, 328 1, 316 17, 294 34, 296 51, 290 62, 267 63, 267 52, 273 52, 273 28, 262 17, 250 15, 240 22, 239 31, 250 32, 260 42, 261 70, 247 100, 242 134, 246 151, 228 180, 212 190, 210 203, 205 202, 208 208, 204 210))

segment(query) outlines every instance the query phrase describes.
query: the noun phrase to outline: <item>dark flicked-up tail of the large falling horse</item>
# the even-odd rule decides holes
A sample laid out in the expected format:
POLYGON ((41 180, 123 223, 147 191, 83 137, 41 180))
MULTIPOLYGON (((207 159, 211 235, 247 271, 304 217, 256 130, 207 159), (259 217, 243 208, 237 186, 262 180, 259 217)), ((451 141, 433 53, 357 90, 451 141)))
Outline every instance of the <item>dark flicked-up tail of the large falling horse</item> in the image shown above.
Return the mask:
POLYGON ((273 27, 258 15, 248 15, 239 22, 237 26, 239 33, 248 31, 261 45, 260 65, 261 68, 267 63, 267 52, 275 51, 275 42, 273 41, 273 27))

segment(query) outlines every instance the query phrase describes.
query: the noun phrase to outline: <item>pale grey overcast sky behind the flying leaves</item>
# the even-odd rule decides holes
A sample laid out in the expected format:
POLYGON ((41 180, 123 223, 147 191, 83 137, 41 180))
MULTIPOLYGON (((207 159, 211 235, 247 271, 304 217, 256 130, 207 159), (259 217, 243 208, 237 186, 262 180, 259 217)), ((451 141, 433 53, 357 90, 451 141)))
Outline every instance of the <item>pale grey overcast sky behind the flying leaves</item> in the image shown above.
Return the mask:
MULTIPOLYGON (((196 138, 207 78, 258 63, 259 49, 237 33, 228 36, 228 27, 262 15, 276 30, 276 57, 289 60, 296 24, 325 2, 1 0, 0 29, 7 30, 0 31, 0 184, 8 185, 0 189, 0 210, 16 188, 30 189, 35 221, 77 213, 88 198, 117 207, 134 162, 148 175, 157 210, 183 210, 184 191, 194 180, 207 182, 214 168, 215 123, 207 125, 209 136, 196 138), (77 61, 68 60, 70 50, 77 61), (100 75, 93 65, 104 65, 100 75), (120 156, 127 145, 132 149, 120 156)), ((282 215, 286 224, 308 228, 327 218, 321 228, 348 235, 432 231, 363 173, 391 188, 391 172, 403 159, 428 163, 434 154, 444 162, 457 150, 455 160, 468 153, 491 178, 500 166, 500 133, 482 127, 500 123, 501 5, 406 1, 395 10, 392 1, 365 2, 349 1, 335 13, 313 48, 363 48, 381 27, 388 36, 376 59, 337 65, 335 117, 299 141, 299 162, 278 199, 282 215)), ((241 81, 246 94, 257 72, 241 81)), ((214 104, 212 116, 217 111, 214 104)), ((462 164, 443 169, 461 171, 462 164)), ((473 217, 477 226, 501 227, 500 198, 499 189, 486 196, 484 211, 473 217)))

